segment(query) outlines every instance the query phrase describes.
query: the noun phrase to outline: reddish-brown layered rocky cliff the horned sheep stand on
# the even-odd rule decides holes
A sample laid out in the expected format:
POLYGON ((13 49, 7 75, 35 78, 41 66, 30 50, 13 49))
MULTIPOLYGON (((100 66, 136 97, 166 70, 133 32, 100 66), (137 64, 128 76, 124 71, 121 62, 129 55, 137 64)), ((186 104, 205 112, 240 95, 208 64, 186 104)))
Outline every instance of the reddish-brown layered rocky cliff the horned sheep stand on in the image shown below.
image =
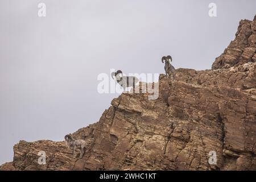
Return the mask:
POLYGON ((256 170, 256 18, 213 69, 159 77, 159 98, 123 93, 100 121, 73 134, 90 143, 74 159, 64 142, 20 141, 1 170, 256 170), (46 165, 38 152, 46 151, 46 165), (215 151, 217 164, 209 164, 215 151))

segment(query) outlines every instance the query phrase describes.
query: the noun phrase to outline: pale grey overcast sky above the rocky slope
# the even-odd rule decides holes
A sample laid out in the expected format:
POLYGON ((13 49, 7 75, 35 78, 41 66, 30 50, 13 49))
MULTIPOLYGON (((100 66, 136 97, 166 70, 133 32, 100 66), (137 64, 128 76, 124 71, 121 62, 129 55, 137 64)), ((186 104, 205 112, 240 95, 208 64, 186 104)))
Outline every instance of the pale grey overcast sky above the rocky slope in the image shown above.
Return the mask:
POLYGON ((255 8, 255 0, 1 0, 0 164, 19 140, 63 140, 97 122, 118 96, 97 92, 97 76, 111 68, 164 73, 160 59, 172 55, 176 68, 210 69, 255 8))

